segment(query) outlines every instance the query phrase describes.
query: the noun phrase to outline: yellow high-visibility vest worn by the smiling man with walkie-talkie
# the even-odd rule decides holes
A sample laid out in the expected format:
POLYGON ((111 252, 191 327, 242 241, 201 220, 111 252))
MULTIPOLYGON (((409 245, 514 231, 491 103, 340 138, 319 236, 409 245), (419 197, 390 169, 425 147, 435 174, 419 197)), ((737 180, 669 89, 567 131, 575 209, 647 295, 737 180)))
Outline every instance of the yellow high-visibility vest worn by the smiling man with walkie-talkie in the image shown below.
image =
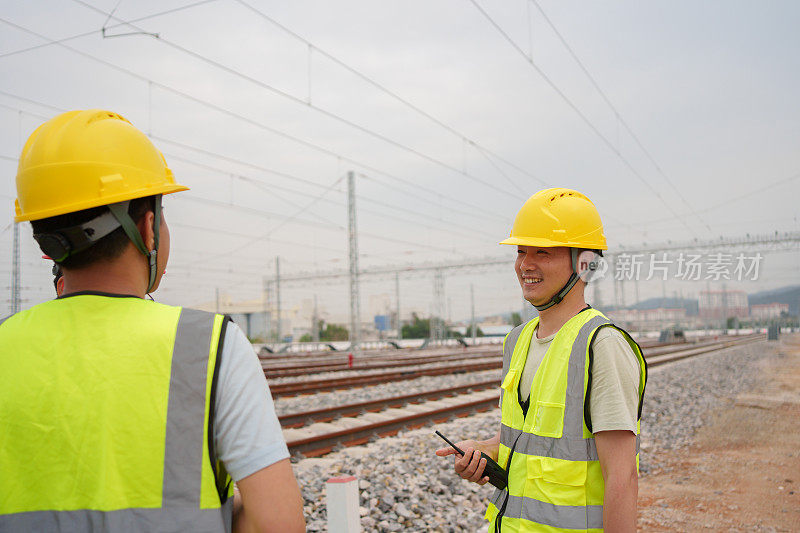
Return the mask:
MULTIPOLYGON (((518 326, 503 341, 497 462, 508 471, 508 487, 496 489, 490 499, 486 512, 489 531, 599 532, 603 530, 604 482, 587 391, 591 390, 592 341, 601 327, 616 326, 591 308, 567 321, 539 365, 528 413, 523 416, 517 390, 538 323, 537 317, 518 326)), ((647 365, 639 345, 620 331, 639 360, 640 418, 647 365)), ((638 418, 636 433, 638 469, 638 418)))

